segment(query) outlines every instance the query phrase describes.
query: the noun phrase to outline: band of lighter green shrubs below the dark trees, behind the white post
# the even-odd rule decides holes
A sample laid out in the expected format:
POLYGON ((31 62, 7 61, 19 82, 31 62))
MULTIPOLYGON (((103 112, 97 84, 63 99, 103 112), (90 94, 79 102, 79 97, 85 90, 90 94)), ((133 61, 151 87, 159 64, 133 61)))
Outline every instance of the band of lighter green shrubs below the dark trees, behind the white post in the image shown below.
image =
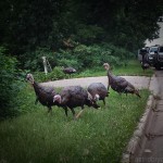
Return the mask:
MULTIPOLYGON (((124 62, 134 58, 134 53, 117 48, 113 45, 76 45, 72 50, 62 50, 51 52, 48 49, 38 49, 33 57, 24 63, 26 70, 43 71, 42 57, 47 57, 51 67, 55 66, 73 66, 76 70, 101 66, 104 62, 109 62, 113 66, 123 65, 124 62)), ((29 53, 26 54, 26 58, 29 53)), ((49 70, 50 71, 50 70, 49 70)))

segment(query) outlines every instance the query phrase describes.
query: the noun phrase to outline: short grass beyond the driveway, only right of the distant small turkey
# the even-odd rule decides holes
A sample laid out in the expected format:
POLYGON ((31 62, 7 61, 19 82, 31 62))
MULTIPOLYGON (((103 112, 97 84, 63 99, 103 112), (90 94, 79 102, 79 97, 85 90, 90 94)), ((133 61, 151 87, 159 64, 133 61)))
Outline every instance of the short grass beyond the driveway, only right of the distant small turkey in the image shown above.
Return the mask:
MULTIPOLYGON (((140 62, 138 60, 130 60, 128 61, 127 65, 123 66, 114 66, 112 67, 112 73, 115 75, 121 76, 152 76, 153 70, 148 68, 145 72, 141 68, 140 62)), ((73 75, 74 77, 91 77, 91 76, 104 76, 105 71, 103 70, 103 66, 92 68, 92 70, 86 70, 79 74, 73 75)))

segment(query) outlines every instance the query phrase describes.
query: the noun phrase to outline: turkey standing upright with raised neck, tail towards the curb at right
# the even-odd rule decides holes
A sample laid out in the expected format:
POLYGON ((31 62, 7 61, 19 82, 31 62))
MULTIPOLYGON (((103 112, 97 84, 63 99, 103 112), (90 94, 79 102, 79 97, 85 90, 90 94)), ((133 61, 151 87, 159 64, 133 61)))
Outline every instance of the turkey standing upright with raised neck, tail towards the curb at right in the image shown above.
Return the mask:
POLYGON ((108 63, 103 64, 104 68, 108 71, 108 79, 109 79, 109 85, 114 91, 117 91, 118 93, 135 93, 139 98, 139 91, 136 89, 129 82, 127 82, 125 78, 120 77, 120 76, 114 76, 110 72, 110 65, 108 63))

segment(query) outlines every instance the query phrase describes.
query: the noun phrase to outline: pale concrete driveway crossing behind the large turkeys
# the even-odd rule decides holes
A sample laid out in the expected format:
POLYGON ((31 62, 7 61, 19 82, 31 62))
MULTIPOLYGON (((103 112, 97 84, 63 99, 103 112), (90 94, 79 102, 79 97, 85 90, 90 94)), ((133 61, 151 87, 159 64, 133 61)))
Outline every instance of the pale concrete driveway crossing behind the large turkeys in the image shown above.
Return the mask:
MULTIPOLYGON (((138 89, 148 89, 150 85, 151 77, 146 76, 122 76, 126 78, 129 83, 131 83, 138 89)), ((88 87, 91 83, 102 83, 108 86, 108 77, 85 77, 85 78, 71 78, 71 79, 61 79, 54 82, 42 83, 43 86, 52 86, 52 87, 66 87, 66 86, 82 86, 88 87)))

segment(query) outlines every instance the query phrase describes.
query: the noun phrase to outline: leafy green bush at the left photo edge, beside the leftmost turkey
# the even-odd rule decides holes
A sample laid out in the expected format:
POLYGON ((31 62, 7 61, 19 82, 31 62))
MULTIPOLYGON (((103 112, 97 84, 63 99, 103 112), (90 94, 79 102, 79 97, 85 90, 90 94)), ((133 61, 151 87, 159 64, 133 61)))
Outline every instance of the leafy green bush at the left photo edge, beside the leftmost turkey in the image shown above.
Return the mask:
POLYGON ((14 58, 7 57, 7 50, 0 47, 0 117, 13 116, 16 110, 13 110, 15 98, 22 88, 16 73, 17 61, 14 58))

